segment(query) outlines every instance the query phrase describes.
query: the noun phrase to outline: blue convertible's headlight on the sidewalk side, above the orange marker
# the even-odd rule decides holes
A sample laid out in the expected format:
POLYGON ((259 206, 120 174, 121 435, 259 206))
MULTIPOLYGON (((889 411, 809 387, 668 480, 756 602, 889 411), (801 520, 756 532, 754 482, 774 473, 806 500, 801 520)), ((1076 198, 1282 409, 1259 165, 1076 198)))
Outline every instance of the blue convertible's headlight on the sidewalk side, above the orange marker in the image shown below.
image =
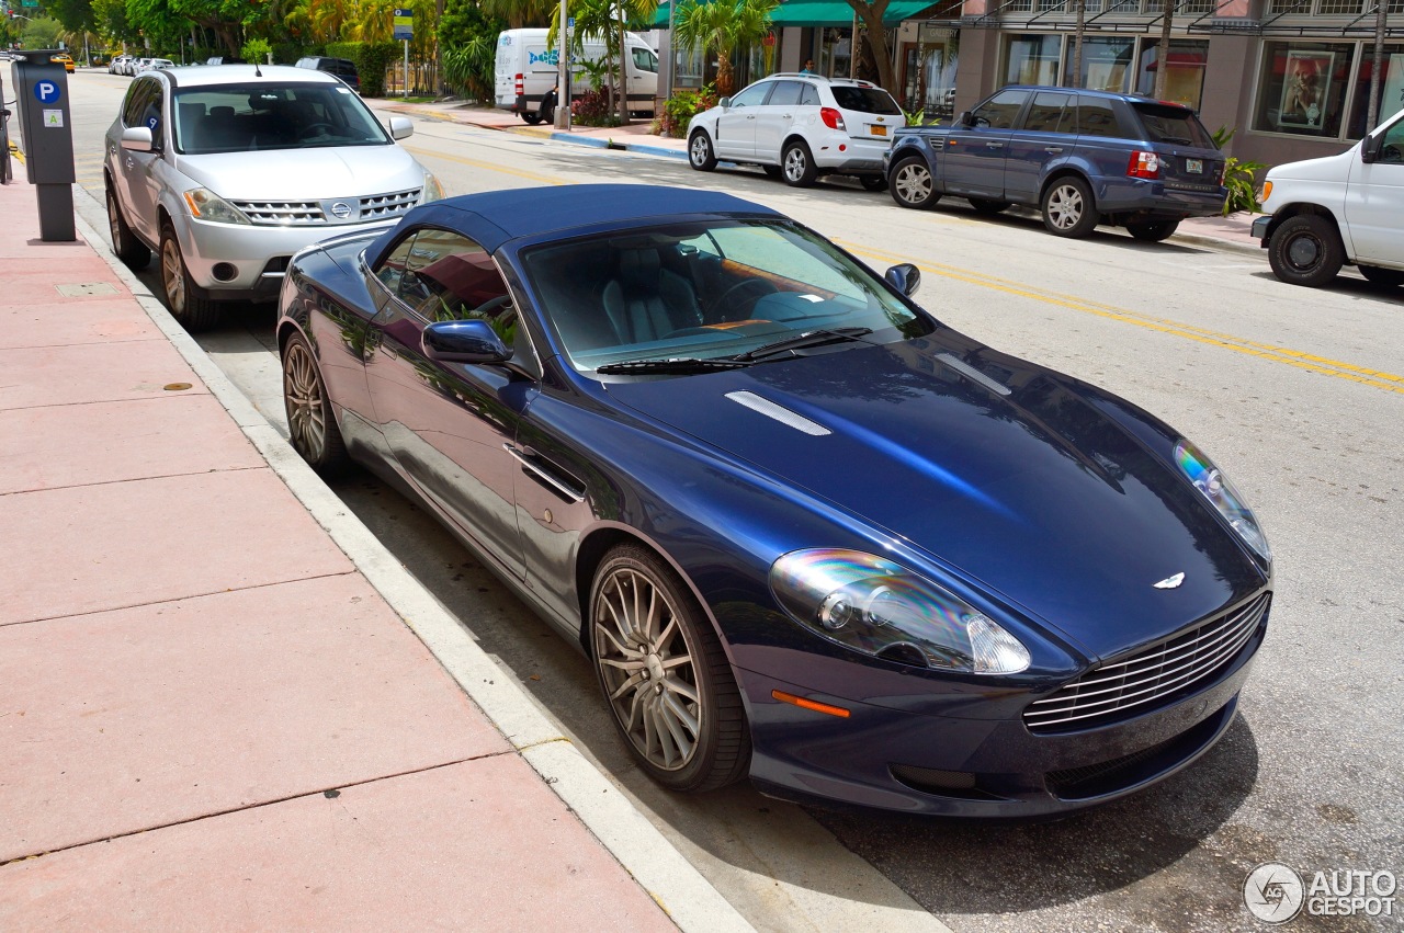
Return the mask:
POLYGON ((771 592, 795 619, 863 654, 960 673, 1018 673, 1029 651, 988 616, 890 560, 840 549, 790 551, 771 592))

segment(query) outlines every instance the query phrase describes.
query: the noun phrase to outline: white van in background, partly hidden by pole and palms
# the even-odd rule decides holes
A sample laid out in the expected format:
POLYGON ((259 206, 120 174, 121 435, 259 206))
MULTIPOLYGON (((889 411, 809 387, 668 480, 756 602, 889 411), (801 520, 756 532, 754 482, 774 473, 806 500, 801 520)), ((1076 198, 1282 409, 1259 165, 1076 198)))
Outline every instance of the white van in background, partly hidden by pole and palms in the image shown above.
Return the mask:
MULTIPOLYGON (((555 119, 556 69, 559 52, 546 48, 549 29, 507 29, 497 36, 497 62, 494 67, 493 97, 497 107, 521 114, 528 123, 555 119)), ((604 39, 585 39, 585 55, 590 62, 605 58, 604 39)), ((653 114, 653 102, 658 93, 658 55, 649 43, 633 32, 625 34, 625 66, 629 93, 629 109, 636 114, 653 114)), ((571 60, 571 94, 578 95, 590 87, 584 72, 571 60)))

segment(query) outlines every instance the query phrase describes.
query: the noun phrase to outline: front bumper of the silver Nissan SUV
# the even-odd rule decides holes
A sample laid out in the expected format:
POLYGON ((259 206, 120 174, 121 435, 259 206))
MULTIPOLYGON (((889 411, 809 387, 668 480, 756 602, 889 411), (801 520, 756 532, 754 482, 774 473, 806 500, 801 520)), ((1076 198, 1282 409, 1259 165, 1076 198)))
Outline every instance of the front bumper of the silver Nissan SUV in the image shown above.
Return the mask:
POLYGON ((369 223, 265 226, 211 223, 181 217, 176 236, 191 283, 202 297, 271 299, 278 295, 292 254, 313 243, 357 230, 383 230, 400 216, 369 223), (220 268, 216 276, 215 267, 220 268))

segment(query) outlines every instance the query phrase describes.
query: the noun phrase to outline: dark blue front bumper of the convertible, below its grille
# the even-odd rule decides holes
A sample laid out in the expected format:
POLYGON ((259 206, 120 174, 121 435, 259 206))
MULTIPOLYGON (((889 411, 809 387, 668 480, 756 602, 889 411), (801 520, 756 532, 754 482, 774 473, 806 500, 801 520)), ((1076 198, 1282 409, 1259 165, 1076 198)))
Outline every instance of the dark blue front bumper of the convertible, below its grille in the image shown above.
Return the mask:
POLYGON ((1125 797, 1189 766, 1233 723, 1261 622, 1220 675, 1175 703, 1113 725, 1035 735, 1022 718, 928 716, 739 671, 761 793, 936 817, 1029 819, 1125 797), (851 711, 814 713, 781 690, 851 711))

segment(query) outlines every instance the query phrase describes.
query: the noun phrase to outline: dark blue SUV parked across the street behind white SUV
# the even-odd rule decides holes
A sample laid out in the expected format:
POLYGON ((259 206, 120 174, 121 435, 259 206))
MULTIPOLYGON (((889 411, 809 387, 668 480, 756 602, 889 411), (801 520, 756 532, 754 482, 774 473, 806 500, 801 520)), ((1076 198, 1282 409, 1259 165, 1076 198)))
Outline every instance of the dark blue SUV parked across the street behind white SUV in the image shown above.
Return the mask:
POLYGON ((904 208, 942 195, 980 213, 1038 208, 1049 231, 1098 223, 1158 241, 1223 210, 1224 157, 1188 107, 1134 94, 1005 87, 949 126, 897 130, 887 189, 904 208))

